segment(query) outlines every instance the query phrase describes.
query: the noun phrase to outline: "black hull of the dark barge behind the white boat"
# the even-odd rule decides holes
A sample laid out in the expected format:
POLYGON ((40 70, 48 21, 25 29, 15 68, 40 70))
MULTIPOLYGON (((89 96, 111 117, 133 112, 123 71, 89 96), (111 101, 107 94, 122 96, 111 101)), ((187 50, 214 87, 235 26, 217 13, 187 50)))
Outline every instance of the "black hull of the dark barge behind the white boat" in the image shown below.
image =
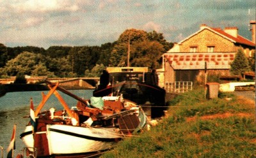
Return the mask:
POLYGON ((152 118, 162 117, 166 108, 165 106, 166 92, 161 87, 150 85, 147 83, 140 83, 134 80, 115 83, 112 87, 108 86, 106 89, 94 90, 93 96, 103 97, 108 95, 118 96, 122 94, 125 99, 133 101, 137 104, 143 105, 150 103, 152 108, 152 118))

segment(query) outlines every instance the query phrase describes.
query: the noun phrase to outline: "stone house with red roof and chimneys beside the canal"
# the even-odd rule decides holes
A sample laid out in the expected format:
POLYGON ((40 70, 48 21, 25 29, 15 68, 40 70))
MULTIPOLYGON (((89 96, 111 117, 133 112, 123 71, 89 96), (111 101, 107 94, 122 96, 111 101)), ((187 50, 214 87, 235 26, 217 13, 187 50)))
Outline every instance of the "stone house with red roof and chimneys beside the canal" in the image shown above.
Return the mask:
POLYGON ((255 21, 250 23, 252 41, 240 36, 237 27, 222 30, 202 24, 163 55, 164 83, 205 82, 206 74, 230 75, 237 50, 243 50, 246 57, 255 53, 255 21))

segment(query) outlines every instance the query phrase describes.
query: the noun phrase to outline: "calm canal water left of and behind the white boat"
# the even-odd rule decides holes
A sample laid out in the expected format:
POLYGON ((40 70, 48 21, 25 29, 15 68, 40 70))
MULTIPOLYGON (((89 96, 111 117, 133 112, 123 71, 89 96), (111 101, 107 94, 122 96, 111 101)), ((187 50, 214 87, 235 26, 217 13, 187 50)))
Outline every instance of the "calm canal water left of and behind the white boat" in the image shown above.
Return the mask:
MULTIPOLYGON (((4 148, 4 157, 6 157, 6 150, 12 137, 14 124, 17 126, 14 155, 22 153, 21 151, 25 146, 22 140, 20 140, 19 135, 24 131, 26 124, 29 122, 29 118, 26 116, 29 116, 30 98, 33 99, 34 108, 36 109, 38 104, 42 101, 42 92, 44 92, 45 95, 48 93, 48 91, 8 92, 0 97, 0 145, 4 148)), ((90 99, 93 90, 69 90, 69 92, 81 98, 90 99)), ((76 99, 62 92, 59 93, 70 107, 76 106, 76 99)), ((54 95, 50 97, 42 110, 48 110, 51 107, 57 110, 63 110, 60 102, 54 95)))

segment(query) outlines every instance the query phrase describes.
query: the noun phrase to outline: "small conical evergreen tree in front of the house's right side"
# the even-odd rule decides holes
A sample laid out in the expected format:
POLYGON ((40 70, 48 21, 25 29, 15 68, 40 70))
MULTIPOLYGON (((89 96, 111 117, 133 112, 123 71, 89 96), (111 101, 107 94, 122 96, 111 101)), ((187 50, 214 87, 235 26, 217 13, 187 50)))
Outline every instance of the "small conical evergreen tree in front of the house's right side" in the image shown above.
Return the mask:
POLYGON ((239 49, 231 64, 230 72, 234 75, 243 75, 246 71, 250 71, 250 65, 243 51, 239 49))

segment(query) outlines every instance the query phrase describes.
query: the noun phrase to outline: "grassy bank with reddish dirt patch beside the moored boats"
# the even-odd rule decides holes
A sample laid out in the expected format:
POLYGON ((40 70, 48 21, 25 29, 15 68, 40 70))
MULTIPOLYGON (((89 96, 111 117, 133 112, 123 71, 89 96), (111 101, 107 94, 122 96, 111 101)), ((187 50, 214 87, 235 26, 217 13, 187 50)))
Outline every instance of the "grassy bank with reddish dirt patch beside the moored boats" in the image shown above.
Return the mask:
POLYGON ((157 126, 101 157, 256 157, 253 101, 229 93, 207 100, 194 90, 171 104, 157 126))

